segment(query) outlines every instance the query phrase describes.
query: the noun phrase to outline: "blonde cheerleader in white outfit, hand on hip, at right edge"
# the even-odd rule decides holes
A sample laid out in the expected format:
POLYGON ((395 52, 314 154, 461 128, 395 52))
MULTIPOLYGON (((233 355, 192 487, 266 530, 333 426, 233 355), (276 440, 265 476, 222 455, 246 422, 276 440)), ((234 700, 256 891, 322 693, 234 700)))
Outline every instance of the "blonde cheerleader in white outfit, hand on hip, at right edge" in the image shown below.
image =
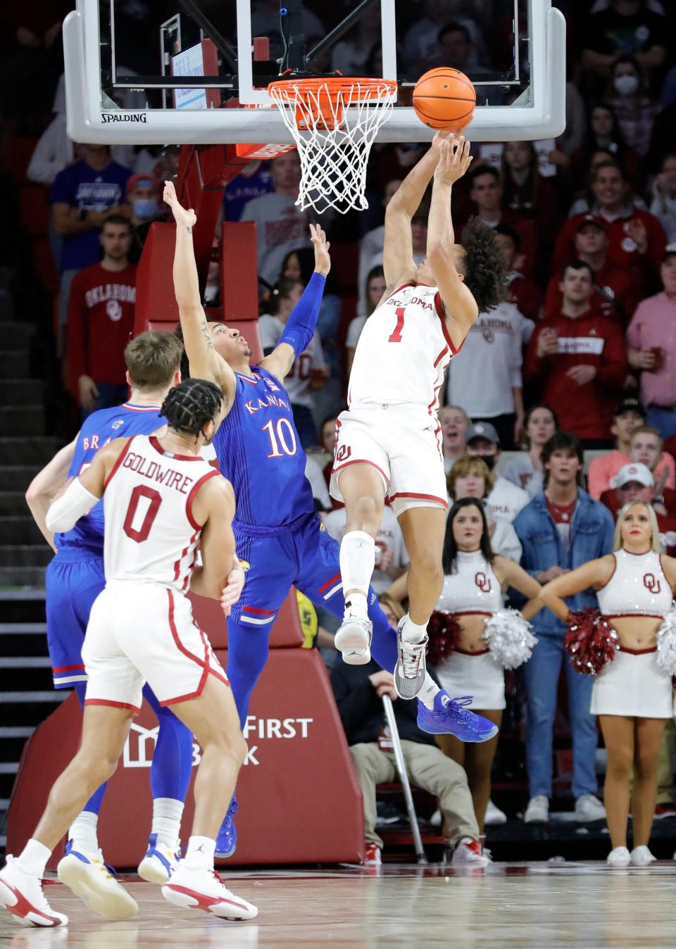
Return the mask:
POLYGON ((661 553, 655 512, 629 502, 619 513, 614 553, 592 560, 543 587, 540 600, 562 620, 563 597, 592 586, 601 613, 618 635, 618 650, 594 679, 592 715, 608 753, 604 791, 611 866, 646 866, 657 799, 657 753, 672 715, 671 672, 659 664, 656 634, 671 609, 676 559, 661 553), (629 780, 633 850, 627 848, 629 780))

